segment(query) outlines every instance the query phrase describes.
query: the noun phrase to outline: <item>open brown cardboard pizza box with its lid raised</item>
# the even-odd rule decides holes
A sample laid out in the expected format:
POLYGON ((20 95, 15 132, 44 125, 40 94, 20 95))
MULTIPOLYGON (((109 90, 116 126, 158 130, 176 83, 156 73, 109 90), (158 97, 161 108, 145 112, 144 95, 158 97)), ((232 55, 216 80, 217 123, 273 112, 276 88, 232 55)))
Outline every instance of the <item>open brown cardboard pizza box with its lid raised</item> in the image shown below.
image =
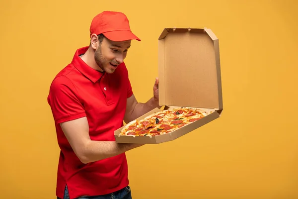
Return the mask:
MULTIPOLYGON (((120 136, 118 143, 158 144, 177 139, 221 116, 223 111, 219 39, 207 28, 165 28, 158 38, 159 105, 198 107, 208 115, 167 134, 120 136)), ((137 118, 161 111, 155 108, 137 118)))

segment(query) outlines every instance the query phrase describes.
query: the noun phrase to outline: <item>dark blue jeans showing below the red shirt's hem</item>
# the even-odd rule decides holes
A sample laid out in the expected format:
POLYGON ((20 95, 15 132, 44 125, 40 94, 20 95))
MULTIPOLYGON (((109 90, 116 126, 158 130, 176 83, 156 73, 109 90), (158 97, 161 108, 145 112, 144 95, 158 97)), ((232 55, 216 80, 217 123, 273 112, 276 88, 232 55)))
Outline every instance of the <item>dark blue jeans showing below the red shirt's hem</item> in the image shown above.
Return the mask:
MULTIPOLYGON (((67 186, 64 191, 64 198, 63 199, 69 199, 69 192, 67 189, 67 186)), ((57 198, 60 199, 60 198, 57 198)), ((132 199, 132 193, 129 186, 117 191, 113 192, 111 194, 102 195, 102 196, 81 196, 76 199, 132 199)))

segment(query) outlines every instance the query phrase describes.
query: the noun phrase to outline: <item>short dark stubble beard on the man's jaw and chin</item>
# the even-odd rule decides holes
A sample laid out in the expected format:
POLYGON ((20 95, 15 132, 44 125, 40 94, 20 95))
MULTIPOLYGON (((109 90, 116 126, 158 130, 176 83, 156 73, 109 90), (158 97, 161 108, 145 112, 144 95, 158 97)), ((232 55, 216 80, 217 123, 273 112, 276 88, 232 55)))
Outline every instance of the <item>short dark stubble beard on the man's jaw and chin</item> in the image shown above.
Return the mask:
POLYGON ((100 67, 100 69, 106 73, 113 73, 115 71, 116 67, 111 66, 111 64, 116 65, 116 66, 118 66, 120 64, 116 60, 107 60, 101 52, 101 46, 99 46, 97 48, 97 50, 95 51, 94 59, 95 59, 96 64, 100 67))

